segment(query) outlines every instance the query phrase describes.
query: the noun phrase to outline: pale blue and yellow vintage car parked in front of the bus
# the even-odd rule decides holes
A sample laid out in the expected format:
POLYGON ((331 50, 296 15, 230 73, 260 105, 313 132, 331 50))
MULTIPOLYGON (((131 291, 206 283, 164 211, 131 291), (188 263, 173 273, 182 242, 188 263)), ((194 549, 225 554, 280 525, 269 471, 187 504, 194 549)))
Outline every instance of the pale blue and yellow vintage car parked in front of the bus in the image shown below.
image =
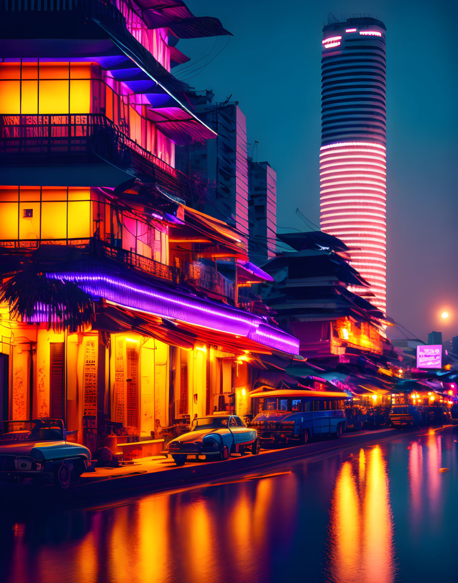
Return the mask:
POLYGON ((168 443, 168 453, 177 466, 186 459, 228 459, 231 453, 259 453, 258 434, 237 415, 212 415, 194 419, 191 431, 168 443))

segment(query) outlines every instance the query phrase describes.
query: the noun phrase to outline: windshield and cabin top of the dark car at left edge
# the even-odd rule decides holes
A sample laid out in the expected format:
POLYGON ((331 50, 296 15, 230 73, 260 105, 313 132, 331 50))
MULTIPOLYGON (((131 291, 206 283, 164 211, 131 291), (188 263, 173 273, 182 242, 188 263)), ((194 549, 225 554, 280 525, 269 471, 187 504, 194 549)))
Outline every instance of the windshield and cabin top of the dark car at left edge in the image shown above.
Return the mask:
POLYGON ((0 444, 17 441, 62 441, 64 424, 60 419, 0 422, 0 444))

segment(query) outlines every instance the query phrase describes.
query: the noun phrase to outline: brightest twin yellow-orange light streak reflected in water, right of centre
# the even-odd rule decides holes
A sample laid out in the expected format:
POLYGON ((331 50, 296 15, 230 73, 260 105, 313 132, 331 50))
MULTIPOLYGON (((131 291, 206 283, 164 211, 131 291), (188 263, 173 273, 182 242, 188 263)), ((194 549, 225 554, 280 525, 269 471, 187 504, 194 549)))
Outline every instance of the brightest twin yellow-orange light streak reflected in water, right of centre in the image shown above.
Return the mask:
POLYGON ((382 449, 360 450, 337 475, 330 518, 331 581, 394 581, 393 518, 382 449))

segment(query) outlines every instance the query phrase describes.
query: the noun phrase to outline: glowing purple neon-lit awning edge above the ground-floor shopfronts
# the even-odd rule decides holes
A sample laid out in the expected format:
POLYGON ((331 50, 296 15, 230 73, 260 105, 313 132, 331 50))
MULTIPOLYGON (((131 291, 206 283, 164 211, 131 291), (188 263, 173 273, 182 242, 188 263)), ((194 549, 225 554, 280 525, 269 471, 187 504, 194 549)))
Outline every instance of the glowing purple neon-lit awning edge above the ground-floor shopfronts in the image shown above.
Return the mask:
POLYGON ((237 308, 217 305, 175 290, 131 282, 122 275, 114 276, 103 271, 48 273, 47 277, 76 283, 93 299, 103 297, 125 308, 245 336, 263 346, 288 354, 299 352, 297 338, 265 324, 262 318, 237 308))

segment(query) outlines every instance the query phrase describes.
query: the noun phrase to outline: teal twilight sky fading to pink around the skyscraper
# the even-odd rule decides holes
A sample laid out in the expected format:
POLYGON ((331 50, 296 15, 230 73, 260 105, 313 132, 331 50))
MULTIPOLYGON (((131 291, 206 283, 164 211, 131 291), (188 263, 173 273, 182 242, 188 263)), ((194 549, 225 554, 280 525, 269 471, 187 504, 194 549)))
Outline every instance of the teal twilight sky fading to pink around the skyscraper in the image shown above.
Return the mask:
MULTIPOLYGON (((212 89, 218 101, 232 94, 239 102, 248 142, 259 141, 258 160, 277 172, 277 224, 301 230, 310 229, 297 208, 319 224, 320 58, 327 13, 339 20, 365 13, 385 23, 387 313, 422 340, 433 329, 444 340, 458 335, 458 3, 186 3, 196 16, 218 17, 234 36, 224 49, 227 37, 216 45, 214 38, 180 41, 191 61, 175 68, 175 75, 196 89, 212 89), (443 310, 450 313, 447 324, 443 310)), ((390 336, 404 338, 397 329, 390 336)))

